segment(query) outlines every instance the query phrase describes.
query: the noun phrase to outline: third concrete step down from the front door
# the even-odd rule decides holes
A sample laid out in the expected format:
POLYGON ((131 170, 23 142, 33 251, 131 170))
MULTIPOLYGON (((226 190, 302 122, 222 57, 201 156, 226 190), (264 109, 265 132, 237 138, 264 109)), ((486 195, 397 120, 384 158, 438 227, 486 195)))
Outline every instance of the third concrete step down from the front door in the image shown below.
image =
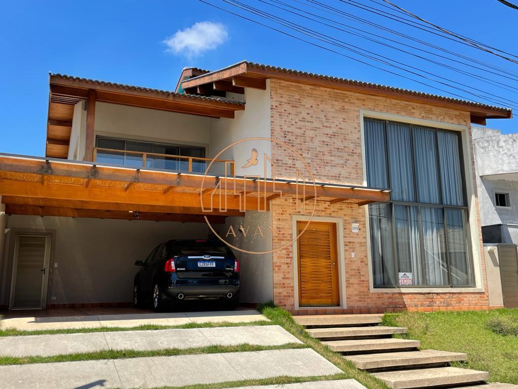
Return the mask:
POLYGON ((322 342, 337 352, 372 352, 383 350, 414 349, 421 344, 419 340, 408 339, 346 339, 322 342))

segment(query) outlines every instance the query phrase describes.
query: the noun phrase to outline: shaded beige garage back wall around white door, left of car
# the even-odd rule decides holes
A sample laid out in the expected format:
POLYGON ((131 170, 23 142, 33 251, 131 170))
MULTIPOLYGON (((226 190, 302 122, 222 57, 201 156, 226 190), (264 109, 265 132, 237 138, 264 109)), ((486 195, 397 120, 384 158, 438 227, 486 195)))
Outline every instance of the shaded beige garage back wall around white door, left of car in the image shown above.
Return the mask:
MULTIPOLYGON (((2 219, 0 227, 1 223, 2 219)), ((136 260, 145 260, 157 244, 168 239, 208 237, 204 223, 12 215, 8 227, 8 266, 4 266, 8 276, 1 284, 0 305, 8 304, 16 231, 53 234, 48 304, 131 302, 136 260)))

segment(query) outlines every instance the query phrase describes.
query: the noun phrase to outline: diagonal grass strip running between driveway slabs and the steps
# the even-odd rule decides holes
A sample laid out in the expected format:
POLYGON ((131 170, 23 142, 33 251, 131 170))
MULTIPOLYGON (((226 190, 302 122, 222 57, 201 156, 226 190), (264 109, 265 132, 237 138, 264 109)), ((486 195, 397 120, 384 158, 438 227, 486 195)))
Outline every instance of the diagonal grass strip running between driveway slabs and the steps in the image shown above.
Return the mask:
MULTIPOLYGON (((340 374, 340 379, 355 379, 356 381, 365 385, 369 389, 387 388, 387 386, 382 381, 372 377, 366 371, 356 369, 354 364, 352 362, 349 362, 347 359, 344 359, 341 354, 330 350, 325 344, 320 342, 318 339, 311 337, 306 331, 305 327, 297 324, 289 312, 283 310, 282 308, 276 307, 271 303, 262 305, 260 311, 263 313, 263 315, 265 315, 267 318, 271 320, 272 324, 277 324, 281 326, 286 331, 290 332, 290 334, 295 336, 298 340, 308 345, 311 349, 322 355, 329 362, 331 362, 340 370, 342 370, 343 376, 342 374, 340 374)), ((329 379, 329 377, 333 376, 325 377, 326 378, 324 379, 329 379)))

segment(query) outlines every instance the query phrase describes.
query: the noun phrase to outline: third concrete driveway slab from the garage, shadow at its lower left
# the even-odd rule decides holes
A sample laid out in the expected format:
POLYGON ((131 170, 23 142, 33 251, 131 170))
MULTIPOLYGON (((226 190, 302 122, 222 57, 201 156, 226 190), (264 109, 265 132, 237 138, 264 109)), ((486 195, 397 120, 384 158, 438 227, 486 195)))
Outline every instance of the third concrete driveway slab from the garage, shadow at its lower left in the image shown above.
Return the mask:
POLYGON ((311 349, 0 366, 4 389, 152 388, 340 372, 311 349))

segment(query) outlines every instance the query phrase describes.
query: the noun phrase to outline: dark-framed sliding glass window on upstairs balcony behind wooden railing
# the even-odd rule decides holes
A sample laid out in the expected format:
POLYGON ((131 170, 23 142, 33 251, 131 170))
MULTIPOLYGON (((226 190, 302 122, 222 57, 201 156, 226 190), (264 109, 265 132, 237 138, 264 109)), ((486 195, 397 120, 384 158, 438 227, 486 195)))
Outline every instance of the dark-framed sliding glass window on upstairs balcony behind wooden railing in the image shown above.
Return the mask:
MULTIPOLYGON (((146 155, 146 167, 167 170, 189 170, 189 160, 185 158, 167 157, 205 157, 205 148, 194 146, 167 145, 160 143, 128 141, 116 138, 97 137, 96 147, 109 150, 97 150, 97 162, 115 163, 140 168, 143 165, 142 153, 146 155), (137 152, 124 152, 137 151, 137 152), (153 155, 159 154, 159 155, 153 155)), ((204 172, 205 161, 193 160, 193 172, 204 172)))

